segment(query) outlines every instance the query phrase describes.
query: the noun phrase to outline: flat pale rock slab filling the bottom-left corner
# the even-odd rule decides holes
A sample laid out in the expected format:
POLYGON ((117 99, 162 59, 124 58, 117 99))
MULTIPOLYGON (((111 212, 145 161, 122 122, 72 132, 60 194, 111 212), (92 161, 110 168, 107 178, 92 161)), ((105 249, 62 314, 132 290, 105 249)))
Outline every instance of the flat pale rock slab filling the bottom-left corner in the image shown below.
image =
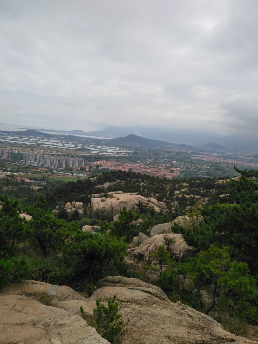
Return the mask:
POLYGON ((81 316, 21 295, 0 294, 1 344, 108 344, 81 316))

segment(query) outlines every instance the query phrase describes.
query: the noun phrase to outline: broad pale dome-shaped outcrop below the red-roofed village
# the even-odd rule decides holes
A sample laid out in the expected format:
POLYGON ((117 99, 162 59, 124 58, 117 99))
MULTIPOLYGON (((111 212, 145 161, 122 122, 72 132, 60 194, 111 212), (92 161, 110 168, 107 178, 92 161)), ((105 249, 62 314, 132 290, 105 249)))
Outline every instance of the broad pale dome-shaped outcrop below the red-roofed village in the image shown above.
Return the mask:
POLYGON ((115 215, 119 214, 123 207, 126 209, 135 209, 137 210, 137 203, 141 202, 146 206, 152 206, 157 213, 161 209, 166 209, 166 204, 163 202, 158 202, 155 198, 147 198, 141 195, 138 195, 134 192, 131 193, 122 193, 121 191, 109 192, 109 196, 105 201, 102 201, 103 194, 94 194, 90 201, 91 207, 95 209, 112 209, 115 215))

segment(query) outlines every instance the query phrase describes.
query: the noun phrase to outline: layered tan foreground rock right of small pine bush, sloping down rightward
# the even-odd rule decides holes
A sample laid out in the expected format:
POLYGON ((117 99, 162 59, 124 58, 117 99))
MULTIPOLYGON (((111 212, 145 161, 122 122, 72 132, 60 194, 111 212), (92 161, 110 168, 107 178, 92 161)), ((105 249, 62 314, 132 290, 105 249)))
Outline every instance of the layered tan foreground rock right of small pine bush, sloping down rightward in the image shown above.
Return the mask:
POLYGON ((122 320, 130 319, 128 332, 122 337, 123 344, 194 344, 205 340, 209 344, 251 344, 246 338, 223 330, 208 315, 200 313, 180 301, 169 301, 162 290, 134 278, 107 277, 99 281, 103 286, 91 298, 84 301, 64 301, 63 307, 70 312, 78 311, 80 305, 91 315, 95 301, 107 302, 114 294, 123 300, 122 320))

